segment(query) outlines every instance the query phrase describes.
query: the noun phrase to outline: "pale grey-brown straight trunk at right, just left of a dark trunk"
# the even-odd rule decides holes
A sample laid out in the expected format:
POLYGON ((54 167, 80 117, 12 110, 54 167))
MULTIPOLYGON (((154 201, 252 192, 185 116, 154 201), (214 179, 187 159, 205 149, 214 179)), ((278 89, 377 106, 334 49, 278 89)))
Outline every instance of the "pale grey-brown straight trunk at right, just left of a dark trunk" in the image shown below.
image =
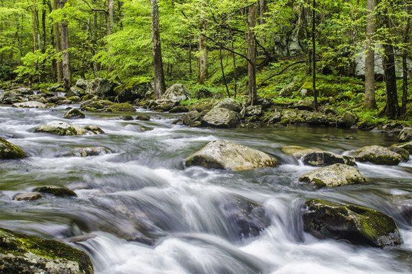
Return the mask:
POLYGON ((375 0, 367 0, 366 18, 366 55, 365 55, 365 105, 376 108, 375 101, 375 53, 372 36, 376 32, 375 25, 375 0))

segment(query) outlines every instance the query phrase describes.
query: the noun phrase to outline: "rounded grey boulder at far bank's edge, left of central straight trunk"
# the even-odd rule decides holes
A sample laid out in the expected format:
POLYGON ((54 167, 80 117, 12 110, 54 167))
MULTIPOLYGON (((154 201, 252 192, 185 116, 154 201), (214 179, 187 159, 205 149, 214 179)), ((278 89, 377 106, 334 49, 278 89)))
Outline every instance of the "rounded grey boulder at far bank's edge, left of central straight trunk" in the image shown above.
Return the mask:
POLYGON ((212 108, 201 122, 205 127, 236 127, 240 123, 240 114, 226 108, 212 108))

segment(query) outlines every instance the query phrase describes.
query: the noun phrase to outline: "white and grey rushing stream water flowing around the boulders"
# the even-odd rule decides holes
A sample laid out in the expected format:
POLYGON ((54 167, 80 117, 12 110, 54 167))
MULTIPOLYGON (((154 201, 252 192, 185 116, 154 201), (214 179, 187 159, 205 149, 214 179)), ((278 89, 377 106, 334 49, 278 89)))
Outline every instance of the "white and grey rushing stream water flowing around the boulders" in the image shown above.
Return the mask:
POLYGON ((390 145, 396 141, 393 136, 326 127, 199 129, 173 125, 172 114, 139 112, 150 114, 151 121, 89 114, 69 122, 98 125, 106 134, 54 136, 35 133, 34 127, 65 121, 64 107, 0 107, 0 136, 30 155, 0 162, 0 226, 66 242, 86 235, 71 245, 89 253, 95 273, 101 274, 412 273, 412 220, 402 213, 402 204, 412 199, 411 159, 399 166, 358 163, 371 184, 314 190, 297 181, 313 168, 279 150, 302 145, 346 153, 365 145, 390 145), (152 130, 141 132, 139 125, 152 130), (343 138, 347 134, 356 140, 343 138), (218 139, 270 153, 281 165, 237 172, 185 168, 188 155, 218 139), (64 156, 74 147, 96 146, 113 153, 64 156), (78 197, 12 200, 18 192, 50 184, 67 186, 78 197), (378 249, 306 234, 301 204, 311 197, 389 214, 404 244, 378 249), (242 199, 264 207, 270 223, 259 236, 240 236, 230 217, 228 203, 242 199))

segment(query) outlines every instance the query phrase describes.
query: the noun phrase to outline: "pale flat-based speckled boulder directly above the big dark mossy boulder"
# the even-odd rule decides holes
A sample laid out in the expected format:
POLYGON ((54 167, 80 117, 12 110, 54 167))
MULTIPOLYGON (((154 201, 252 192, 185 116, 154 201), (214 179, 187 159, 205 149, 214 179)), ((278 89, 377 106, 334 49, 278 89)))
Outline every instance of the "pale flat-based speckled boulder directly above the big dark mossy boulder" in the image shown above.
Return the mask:
POLYGON ((349 184, 364 184, 367 179, 353 166, 347 164, 332 164, 309 171, 299 177, 300 182, 308 182, 318 188, 323 186, 336 187, 349 184))

